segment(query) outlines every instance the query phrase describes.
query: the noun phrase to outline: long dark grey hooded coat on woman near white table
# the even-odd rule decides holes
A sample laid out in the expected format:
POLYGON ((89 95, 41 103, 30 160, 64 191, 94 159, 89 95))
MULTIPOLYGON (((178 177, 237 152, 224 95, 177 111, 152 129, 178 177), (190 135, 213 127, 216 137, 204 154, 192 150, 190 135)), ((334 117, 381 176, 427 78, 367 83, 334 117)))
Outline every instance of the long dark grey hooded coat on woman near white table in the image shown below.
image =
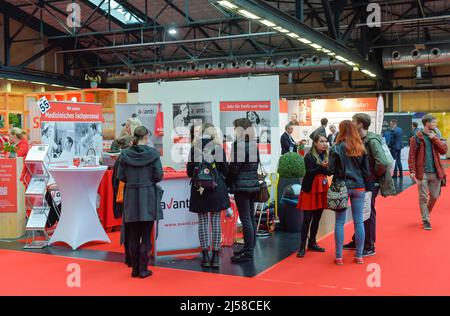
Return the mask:
POLYGON ((125 182, 125 223, 163 219, 161 190, 156 183, 163 178, 159 152, 145 145, 135 145, 121 152, 119 180, 125 182))

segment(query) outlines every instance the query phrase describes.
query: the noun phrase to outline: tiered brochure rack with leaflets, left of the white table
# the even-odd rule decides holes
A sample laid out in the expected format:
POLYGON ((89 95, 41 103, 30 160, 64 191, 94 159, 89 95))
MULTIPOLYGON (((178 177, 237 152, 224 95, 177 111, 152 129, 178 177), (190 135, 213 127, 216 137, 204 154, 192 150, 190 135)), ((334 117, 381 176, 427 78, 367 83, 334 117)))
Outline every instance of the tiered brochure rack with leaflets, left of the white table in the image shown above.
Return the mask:
MULTIPOLYGON (((49 161, 48 145, 34 145, 25 158, 25 167, 31 180, 25 191, 28 209, 31 209, 27 221, 27 243, 24 249, 42 249, 48 246, 49 236, 45 230, 50 207, 45 199, 50 172, 47 169, 49 161), (41 232, 44 240, 35 240, 36 233, 41 232)), ((26 178, 26 177, 25 177, 26 178)))

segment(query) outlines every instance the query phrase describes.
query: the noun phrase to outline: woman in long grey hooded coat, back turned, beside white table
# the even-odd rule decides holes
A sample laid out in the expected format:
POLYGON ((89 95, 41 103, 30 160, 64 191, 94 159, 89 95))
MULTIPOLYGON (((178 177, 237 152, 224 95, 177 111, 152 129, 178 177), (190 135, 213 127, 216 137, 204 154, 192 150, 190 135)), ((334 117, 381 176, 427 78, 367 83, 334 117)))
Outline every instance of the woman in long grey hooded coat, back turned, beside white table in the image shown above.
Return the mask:
POLYGON ((156 183, 163 178, 159 152, 147 146, 144 126, 134 131, 133 146, 120 154, 118 178, 125 182, 124 220, 129 230, 132 277, 145 278, 148 270, 153 222, 163 218, 156 183))

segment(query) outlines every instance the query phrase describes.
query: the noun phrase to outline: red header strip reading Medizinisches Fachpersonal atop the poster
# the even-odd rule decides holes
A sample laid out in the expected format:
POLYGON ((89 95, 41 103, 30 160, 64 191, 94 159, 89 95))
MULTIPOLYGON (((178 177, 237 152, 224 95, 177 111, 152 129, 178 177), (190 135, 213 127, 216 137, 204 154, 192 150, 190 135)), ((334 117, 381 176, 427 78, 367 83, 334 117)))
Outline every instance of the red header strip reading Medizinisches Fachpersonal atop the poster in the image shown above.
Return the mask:
POLYGON ((42 114, 42 122, 103 122, 102 105, 98 103, 52 102, 42 114))

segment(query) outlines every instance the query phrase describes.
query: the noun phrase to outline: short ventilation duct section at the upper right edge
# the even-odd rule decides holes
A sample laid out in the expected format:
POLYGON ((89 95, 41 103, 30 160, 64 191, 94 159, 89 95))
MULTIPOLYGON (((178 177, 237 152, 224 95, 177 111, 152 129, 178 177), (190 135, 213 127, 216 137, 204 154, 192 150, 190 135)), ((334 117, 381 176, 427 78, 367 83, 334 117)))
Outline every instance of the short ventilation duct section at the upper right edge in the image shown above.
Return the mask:
POLYGON ((406 47, 383 50, 383 66, 385 69, 444 65, 450 65, 450 45, 429 46, 426 49, 406 47))

